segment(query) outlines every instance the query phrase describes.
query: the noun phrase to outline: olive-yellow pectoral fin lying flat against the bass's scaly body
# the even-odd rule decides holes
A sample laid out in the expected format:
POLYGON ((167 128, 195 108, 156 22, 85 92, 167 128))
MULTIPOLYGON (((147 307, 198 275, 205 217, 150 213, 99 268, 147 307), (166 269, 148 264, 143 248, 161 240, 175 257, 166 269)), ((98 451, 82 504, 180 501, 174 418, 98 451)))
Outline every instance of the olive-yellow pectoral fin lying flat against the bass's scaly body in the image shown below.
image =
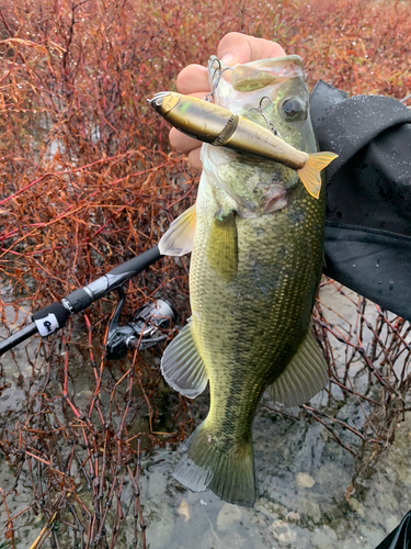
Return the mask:
POLYGON ((238 236, 236 214, 212 223, 207 245, 207 259, 212 269, 225 281, 232 280, 238 269, 238 236))

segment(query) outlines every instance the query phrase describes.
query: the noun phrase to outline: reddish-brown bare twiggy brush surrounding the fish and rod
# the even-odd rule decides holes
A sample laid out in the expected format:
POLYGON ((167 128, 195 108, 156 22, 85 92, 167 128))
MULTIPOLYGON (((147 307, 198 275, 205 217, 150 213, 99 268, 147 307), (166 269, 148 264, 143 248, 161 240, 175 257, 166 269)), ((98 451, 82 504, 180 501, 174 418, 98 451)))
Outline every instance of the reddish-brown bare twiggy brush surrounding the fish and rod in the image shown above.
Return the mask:
MULTIPOLYGON (((230 31, 275 40, 287 54, 300 55, 310 88, 321 78, 350 94, 401 99, 411 92, 409 1, 1 2, 3 337, 32 312, 152 247, 194 203, 199 175, 170 150, 169 127, 146 99, 174 90, 179 71, 205 64, 230 31)), ((164 258, 132 280, 123 318, 160 295, 184 324, 189 262, 189 257, 164 258)), ((330 305, 319 301, 316 309, 317 337, 332 371, 328 408, 306 406, 288 416, 264 408, 264 422, 313 422, 355 458, 353 482, 349 475, 339 488, 339 497, 345 491, 350 502, 355 479, 392 442, 407 408, 373 368, 407 394, 410 328, 332 281, 323 287, 328 303, 338 304, 331 316, 330 305), (356 381, 368 395, 357 407, 350 400, 356 381)), ((114 547, 127 528, 146 547, 133 489, 140 449, 183 440, 207 404, 193 404, 164 386, 160 347, 130 351, 117 363, 104 360, 114 302, 101 300, 62 336, 45 344, 34 338, 1 358, 0 539, 5 541, 0 547, 26 547, 57 509, 65 509, 57 531, 68 547, 76 536, 114 547), (134 518, 126 528, 127 513, 134 518), (81 534, 72 527, 76 520, 83 525, 81 534), (24 534, 25 525, 31 534, 24 534)), ((57 547, 56 533, 48 536, 57 547)))

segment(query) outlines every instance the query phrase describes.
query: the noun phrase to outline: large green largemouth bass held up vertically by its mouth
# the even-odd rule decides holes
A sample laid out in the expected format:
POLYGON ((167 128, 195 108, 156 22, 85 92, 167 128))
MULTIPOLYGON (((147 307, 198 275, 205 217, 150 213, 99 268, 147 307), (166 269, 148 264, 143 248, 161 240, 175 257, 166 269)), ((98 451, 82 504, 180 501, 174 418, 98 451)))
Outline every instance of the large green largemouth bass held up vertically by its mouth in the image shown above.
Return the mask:
MULTIPOLYGON (((215 71, 210 69, 209 78, 215 71)), ((215 101, 247 113, 262 97, 285 143, 317 152, 309 96, 297 56, 237 65, 215 101), (290 109, 293 107, 293 109, 290 109)), ((204 144, 197 202, 160 240, 165 255, 192 250, 192 318, 161 361, 168 383, 190 397, 209 383, 210 407, 192 434, 175 479, 193 491, 252 506, 252 422, 270 388, 285 406, 307 402, 327 383, 310 333, 322 270, 324 189, 310 195, 283 163, 204 144)))

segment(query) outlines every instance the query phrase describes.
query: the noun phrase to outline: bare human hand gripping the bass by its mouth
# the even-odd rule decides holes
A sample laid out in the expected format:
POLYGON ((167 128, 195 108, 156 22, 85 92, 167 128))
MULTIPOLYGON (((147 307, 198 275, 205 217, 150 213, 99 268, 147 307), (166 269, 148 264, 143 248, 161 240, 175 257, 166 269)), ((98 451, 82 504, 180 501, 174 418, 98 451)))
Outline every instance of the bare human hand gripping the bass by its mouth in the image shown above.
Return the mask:
MULTIPOLYGON (((229 67, 238 63, 249 63, 284 55, 286 54, 279 44, 241 33, 226 34, 217 47, 217 57, 229 67)), ((176 77, 176 90, 179 93, 203 99, 210 91, 206 67, 189 65, 183 68, 176 77)), ((174 127, 170 131, 169 139, 173 148, 187 155, 192 168, 202 169, 202 161, 199 160, 201 142, 189 137, 174 127)))

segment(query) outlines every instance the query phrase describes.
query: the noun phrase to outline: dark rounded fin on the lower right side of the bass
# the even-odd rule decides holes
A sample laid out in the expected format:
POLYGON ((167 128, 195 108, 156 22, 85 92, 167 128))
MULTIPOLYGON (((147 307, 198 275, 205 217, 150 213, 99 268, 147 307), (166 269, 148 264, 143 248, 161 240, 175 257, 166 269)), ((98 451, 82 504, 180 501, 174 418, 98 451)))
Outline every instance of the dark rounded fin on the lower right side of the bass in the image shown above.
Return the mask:
POLYGON ((321 391, 328 378, 326 359, 308 332, 286 369, 267 389, 275 402, 299 406, 321 391))

